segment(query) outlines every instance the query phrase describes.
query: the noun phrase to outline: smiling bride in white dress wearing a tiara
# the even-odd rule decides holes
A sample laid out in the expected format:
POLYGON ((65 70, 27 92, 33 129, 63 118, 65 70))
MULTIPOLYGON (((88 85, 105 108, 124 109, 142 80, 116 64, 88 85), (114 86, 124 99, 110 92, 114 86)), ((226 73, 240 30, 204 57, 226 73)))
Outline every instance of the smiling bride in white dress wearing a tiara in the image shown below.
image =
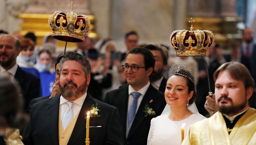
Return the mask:
POLYGON ((148 145, 180 145, 182 142, 181 127, 188 131, 188 127, 205 117, 199 113, 193 113, 188 106, 194 103, 196 98, 194 75, 182 62, 173 64, 169 71, 165 90, 165 100, 170 112, 151 120, 148 133, 148 145))

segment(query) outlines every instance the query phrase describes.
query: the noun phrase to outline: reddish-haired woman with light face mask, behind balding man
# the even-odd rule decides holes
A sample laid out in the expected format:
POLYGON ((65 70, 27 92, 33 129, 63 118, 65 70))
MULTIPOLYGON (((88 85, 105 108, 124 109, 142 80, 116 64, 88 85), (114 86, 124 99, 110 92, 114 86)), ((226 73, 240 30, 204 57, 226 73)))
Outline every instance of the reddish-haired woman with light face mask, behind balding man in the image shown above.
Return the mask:
POLYGON ((31 39, 23 38, 22 40, 20 40, 21 51, 19 56, 17 57, 17 64, 22 70, 31 73, 37 77, 40 77, 38 70, 34 68, 34 47, 35 44, 31 39))

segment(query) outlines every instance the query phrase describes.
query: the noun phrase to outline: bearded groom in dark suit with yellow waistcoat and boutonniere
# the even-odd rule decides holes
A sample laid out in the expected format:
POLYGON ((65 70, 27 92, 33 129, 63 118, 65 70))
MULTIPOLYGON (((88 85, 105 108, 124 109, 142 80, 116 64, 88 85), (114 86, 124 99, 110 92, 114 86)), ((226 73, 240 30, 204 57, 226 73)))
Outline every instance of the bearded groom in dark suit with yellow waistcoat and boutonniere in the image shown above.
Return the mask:
POLYGON ((32 105, 30 122, 23 133, 24 144, 84 145, 85 117, 90 111, 90 144, 122 145, 117 108, 87 93, 91 67, 86 57, 68 53, 60 60, 59 69, 60 95, 32 105))

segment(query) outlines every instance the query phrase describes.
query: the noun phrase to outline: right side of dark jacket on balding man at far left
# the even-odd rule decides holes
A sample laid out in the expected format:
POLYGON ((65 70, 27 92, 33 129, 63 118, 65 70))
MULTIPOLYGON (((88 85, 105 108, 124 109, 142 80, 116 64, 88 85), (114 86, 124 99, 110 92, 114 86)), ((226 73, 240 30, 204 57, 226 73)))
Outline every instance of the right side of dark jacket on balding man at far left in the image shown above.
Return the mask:
POLYGON ((29 103, 40 96, 40 79, 18 67, 14 78, 18 81, 24 98, 24 111, 29 112, 29 103))

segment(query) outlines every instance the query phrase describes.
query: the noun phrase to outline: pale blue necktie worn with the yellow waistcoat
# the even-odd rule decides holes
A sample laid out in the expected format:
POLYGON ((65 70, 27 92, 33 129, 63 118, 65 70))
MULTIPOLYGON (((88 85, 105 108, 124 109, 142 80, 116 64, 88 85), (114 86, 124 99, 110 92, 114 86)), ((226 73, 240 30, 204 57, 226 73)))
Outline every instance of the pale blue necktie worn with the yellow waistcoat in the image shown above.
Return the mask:
POLYGON ((72 105, 73 102, 66 102, 66 104, 68 105, 68 110, 65 112, 63 118, 62 118, 62 127, 63 130, 65 130, 67 128, 67 126, 70 124, 70 122, 73 120, 73 111, 72 111, 72 105))

